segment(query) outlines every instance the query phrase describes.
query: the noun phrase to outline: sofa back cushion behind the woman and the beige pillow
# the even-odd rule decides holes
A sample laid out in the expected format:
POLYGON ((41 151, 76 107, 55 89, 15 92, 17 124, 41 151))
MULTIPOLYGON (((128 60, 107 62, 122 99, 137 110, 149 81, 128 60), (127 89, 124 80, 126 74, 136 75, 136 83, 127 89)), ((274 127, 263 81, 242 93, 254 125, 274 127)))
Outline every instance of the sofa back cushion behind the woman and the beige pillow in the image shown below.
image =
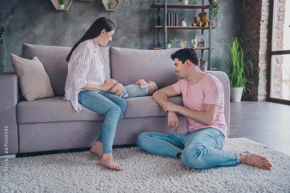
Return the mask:
MULTIPOLYGON (((22 57, 31 60, 33 57, 37 56, 50 79, 50 84, 55 96, 64 96, 66 75, 68 73, 68 63, 65 59, 71 49, 72 47, 23 43, 22 57)), ((109 47, 100 47, 100 52, 106 67, 106 78, 110 78, 109 47)))

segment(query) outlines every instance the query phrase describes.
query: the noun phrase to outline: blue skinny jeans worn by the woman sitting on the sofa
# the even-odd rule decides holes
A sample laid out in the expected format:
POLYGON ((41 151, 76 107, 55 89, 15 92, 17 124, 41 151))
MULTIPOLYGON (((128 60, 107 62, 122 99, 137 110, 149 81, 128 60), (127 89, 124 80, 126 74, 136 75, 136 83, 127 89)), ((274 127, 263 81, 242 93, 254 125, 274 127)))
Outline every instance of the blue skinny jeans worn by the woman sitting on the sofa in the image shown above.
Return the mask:
POLYGON ((116 127, 125 112, 126 101, 110 93, 86 90, 79 92, 78 101, 86 108, 106 116, 96 141, 103 143, 103 154, 113 153, 112 148, 116 127))

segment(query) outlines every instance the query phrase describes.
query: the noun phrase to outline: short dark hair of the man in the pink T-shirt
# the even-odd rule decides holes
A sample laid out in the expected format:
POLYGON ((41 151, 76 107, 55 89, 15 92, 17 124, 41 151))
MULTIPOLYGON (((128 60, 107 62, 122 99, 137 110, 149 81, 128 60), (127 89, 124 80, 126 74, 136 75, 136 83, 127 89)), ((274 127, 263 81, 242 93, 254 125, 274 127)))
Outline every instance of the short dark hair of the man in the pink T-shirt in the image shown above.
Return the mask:
POLYGON ((182 64, 185 63, 185 61, 188 59, 193 64, 200 66, 200 58, 198 56, 198 53, 195 49, 192 47, 185 47, 183 49, 179 49, 176 52, 171 54, 171 59, 174 60, 177 58, 179 61, 182 62, 182 64))

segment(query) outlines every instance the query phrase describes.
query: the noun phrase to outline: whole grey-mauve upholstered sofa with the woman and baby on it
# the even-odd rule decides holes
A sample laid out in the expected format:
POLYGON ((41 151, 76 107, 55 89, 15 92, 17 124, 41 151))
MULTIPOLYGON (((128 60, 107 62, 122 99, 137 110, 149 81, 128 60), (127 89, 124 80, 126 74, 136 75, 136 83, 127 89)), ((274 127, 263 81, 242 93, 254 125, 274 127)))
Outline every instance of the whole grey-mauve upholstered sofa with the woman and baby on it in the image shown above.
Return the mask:
MULTIPOLYGON (((8 126, 9 155, 50 150, 66 152, 68 149, 91 147, 95 143, 105 117, 84 106, 84 110, 77 113, 70 102, 63 100, 68 71, 65 57, 70 49, 23 44, 22 57, 32 59, 37 56, 49 76, 55 97, 28 102, 21 97, 17 75, 13 72, 0 74, 0 124, 1 130, 8 126)), ((142 78, 156 82, 159 88, 178 81, 170 59, 175 50, 100 48, 106 65, 106 78, 114 78, 123 85, 134 84, 142 78)), ((207 73, 215 75, 224 85, 224 114, 229 126, 229 79, 221 71, 207 73)), ((169 98, 169 101, 182 105, 182 96, 169 98)), ((117 126, 114 146, 135 144, 141 132, 174 132, 173 128, 167 128, 167 113, 151 96, 128 98, 126 102, 127 108, 117 126)), ((186 132, 186 117, 178 116, 180 127, 177 133, 186 132)), ((1 144, 4 140, 4 134, 0 135, 1 144)), ((0 149, 0 155, 7 155, 4 148, 0 149)))

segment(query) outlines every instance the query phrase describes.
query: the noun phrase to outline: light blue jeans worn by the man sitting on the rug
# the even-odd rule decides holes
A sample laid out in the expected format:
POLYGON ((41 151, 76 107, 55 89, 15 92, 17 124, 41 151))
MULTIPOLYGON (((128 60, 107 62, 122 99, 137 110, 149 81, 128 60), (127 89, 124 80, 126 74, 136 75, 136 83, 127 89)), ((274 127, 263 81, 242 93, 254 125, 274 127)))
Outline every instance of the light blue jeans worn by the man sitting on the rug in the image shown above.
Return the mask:
POLYGON ((177 158, 181 154, 184 166, 196 169, 215 166, 236 166, 236 153, 222 151, 224 135, 215 128, 204 128, 187 133, 144 132, 137 137, 137 145, 152 154, 177 158))

